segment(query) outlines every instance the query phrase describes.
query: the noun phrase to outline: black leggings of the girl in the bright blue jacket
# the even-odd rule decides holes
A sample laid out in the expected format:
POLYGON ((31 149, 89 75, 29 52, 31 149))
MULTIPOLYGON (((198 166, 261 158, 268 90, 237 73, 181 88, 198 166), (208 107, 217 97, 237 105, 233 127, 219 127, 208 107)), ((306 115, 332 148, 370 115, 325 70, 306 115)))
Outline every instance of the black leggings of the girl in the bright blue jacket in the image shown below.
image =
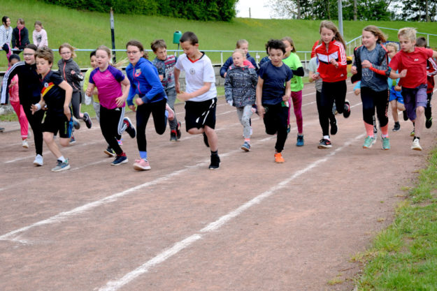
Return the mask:
POLYGON ((147 151, 147 140, 145 138, 145 127, 148 124, 150 113, 153 117, 157 134, 162 135, 166 131, 166 100, 154 103, 144 103, 136 108, 136 144, 138 151, 147 151))

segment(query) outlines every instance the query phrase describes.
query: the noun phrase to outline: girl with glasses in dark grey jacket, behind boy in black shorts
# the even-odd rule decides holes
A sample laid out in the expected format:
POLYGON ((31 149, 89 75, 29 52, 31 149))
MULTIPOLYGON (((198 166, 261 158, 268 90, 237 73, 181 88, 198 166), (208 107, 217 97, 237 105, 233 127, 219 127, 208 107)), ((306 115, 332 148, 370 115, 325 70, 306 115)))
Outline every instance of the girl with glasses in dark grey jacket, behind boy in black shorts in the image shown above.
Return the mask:
MULTIPOLYGON (((80 112, 80 105, 82 103, 82 87, 80 87, 80 82, 83 81, 83 75, 76 61, 73 61, 76 57, 74 48, 69 43, 64 43, 59 47, 59 54, 61 55, 61 59, 57 62, 59 73, 61 73, 64 80, 73 88, 73 96, 71 97, 73 116, 76 117, 76 119, 83 119, 87 128, 91 128, 92 121, 88 112, 80 112)), ((70 144, 76 144, 76 138, 73 134, 71 135, 70 144)))

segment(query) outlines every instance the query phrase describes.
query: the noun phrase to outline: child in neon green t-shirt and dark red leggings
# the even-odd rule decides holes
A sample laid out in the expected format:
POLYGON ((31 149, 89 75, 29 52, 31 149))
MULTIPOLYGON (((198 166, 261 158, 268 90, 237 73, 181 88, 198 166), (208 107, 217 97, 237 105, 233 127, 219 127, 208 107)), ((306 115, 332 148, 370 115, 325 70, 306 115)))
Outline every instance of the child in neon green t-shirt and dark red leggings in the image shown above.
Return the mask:
MULTIPOLYGON (((286 36, 282 38, 282 42, 285 44, 285 55, 282 62, 292 69, 293 77, 290 83, 290 89, 292 90, 291 100, 293 101, 294 116, 296 117, 297 124, 297 142, 296 147, 303 147, 303 119, 302 119, 302 89, 303 82, 302 76, 305 75, 299 56, 296 54, 296 47, 292 38, 286 36)), ((289 102, 290 103, 290 102, 289 102)), ((287 120, 287 132, 289 133, 289 117, 290 107, 288 108, 288 120, 287 120)))

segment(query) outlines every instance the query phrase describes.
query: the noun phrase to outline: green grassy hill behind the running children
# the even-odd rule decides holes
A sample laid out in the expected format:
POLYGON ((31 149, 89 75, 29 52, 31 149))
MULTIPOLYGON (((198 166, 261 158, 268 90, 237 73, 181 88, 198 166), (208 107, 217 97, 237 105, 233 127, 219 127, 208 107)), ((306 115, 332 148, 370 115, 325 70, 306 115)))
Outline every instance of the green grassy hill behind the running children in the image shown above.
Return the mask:
MULTIPOLYGON (((40 20, 48 32, 49 45, 57 49, 64 42, 80 49, 94 49, 99 45, 110 46, 108 13, 78 11, 62 6, 53 6, 36 0, 0 0, 1 14, 8 15, 13 27, 18 17, 24 18, 31 35, 34 22, 40 20)), ((136 38, 145 48, 156 38, 164 38, 169 50, 177 48, 172 44, 173 32, 194 31, 199 36, 203 50, 234 50, 236 40, 245 38, 250 42, 250 50, 264 51, 264 43, 269 38, 291 36, 297 50, 308 51, 319 38, 320 21, 313 20, 257 20, 236 18, 232 22, 201 22, 181 20, 171 17, 146 15, 120 15, 115 13, 115 42, 117 49, 123 49, 128 40, 136 38)), ((435 33, 437 23, 424 22, 351 22, 343 23, 345 39, 350 40, 361 34, 368 24, 399 29, 413 26, 418 31, 435 33)), ((385 31, 389 40, 396 40, 396 31, 385 31)), ((430 38, 437 47, 437 37, 430 38)), ((4 54, 4 53, 3 53, 4 54)), ((264 57, 264 53, 260 53, 264 57)), ((80 66, 88 66, 88 52, 78 52, 76 61, 80 66)), ((220 63, 220 54, 209 53, 215 63, 220 63)), ((224 54, 227 57, 227 54, 224 54)), ((57 55, 58 57, 58 55, 57 55)), ((125 57, 119 52, 118 59, 125 57)), ((0 70, 6 68, 6 58, 0 55, 0 70)))

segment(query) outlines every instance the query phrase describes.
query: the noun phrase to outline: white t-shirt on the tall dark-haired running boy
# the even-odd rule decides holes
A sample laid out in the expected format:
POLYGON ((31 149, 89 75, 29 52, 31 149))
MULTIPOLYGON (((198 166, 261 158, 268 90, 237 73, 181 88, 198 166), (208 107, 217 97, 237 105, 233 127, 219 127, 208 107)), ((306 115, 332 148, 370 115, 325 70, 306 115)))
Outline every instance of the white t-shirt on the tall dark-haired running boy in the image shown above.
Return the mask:
POLYGON ((203 83, 211 83, 208 92, 191 98, 189 101, 206 101, 217 97, 217 89, 215 89, 215 73, 211 60, 203 53, 202 57, 197 61, 192 62, 186 54, 178 57, 175 67, 178 70, 185 70, 185 82, 187 83, 187 93, 192 93, 203 87, 203 83))

